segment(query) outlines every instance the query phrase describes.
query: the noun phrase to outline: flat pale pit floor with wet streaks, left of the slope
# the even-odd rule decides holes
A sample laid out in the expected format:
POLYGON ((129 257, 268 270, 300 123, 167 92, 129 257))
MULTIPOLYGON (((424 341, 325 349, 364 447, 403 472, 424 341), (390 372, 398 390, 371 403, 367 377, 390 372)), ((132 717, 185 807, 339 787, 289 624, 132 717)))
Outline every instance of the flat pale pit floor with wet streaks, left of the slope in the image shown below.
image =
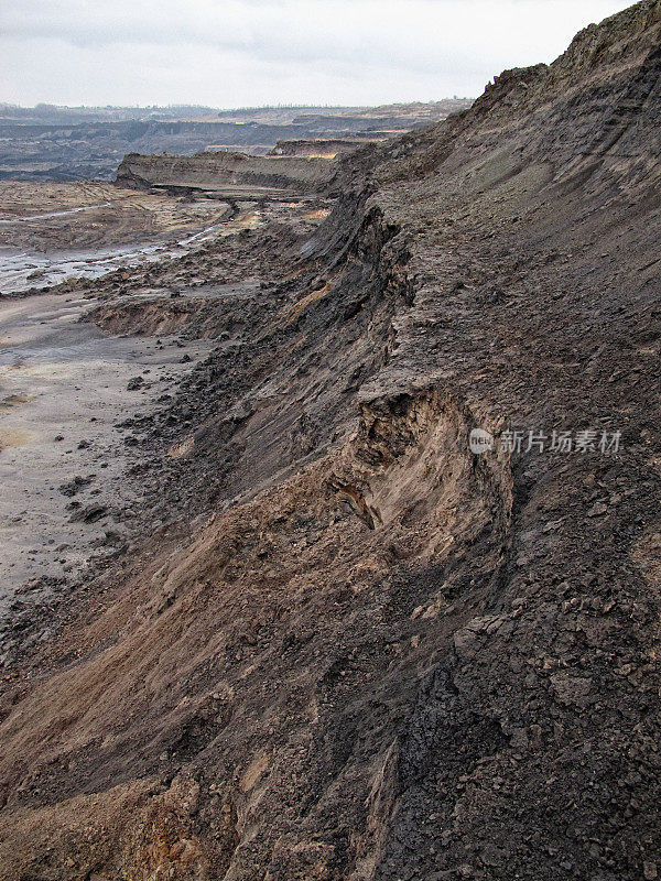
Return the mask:
MULTIPOLYGON (((292 207, 270 211, 279 217, 292 207)), ((173 327, 145 330, 160 338, 139 336, 131 318, 106 316, 101 329, 80 320, 99 302, 88 291, 48 287, 170 257, 184 258, 178 271, 172 263, 173 278, 186 275, 186 254, 260 226, 266 214, 253 204, 230 208, 107 184, 0 185, 0 626, 17 594, 72 585, 93 557, 126 546, 141 488, 127 478, 139 456, 121 423, 159 406, 214 345, 180 338, 173 327), (1 295, 31 285, 45 286, 32 296, 1 295)), ((175 289, 189 297, 195 286, 202 302, 241 298, 253 286, 245 279, 204 291, 170 282, 128 293, 115 281, 101 300, 119 294, 126 305, 155 293, 169 306, 175 289)))

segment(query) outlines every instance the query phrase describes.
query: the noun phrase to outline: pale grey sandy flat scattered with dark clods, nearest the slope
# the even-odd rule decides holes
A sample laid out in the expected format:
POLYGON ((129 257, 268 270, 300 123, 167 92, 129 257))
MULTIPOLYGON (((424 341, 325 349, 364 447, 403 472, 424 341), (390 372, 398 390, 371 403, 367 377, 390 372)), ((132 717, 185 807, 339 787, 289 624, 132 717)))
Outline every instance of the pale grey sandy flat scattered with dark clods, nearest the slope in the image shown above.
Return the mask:
POLYGON ((112 337, 79 322, 88 308, 71 294, 0 300, 0 614, 31 579, 74 578, 121 545, 136 490, 120 479, 130 447, 116 423, 209 346, 112 337))

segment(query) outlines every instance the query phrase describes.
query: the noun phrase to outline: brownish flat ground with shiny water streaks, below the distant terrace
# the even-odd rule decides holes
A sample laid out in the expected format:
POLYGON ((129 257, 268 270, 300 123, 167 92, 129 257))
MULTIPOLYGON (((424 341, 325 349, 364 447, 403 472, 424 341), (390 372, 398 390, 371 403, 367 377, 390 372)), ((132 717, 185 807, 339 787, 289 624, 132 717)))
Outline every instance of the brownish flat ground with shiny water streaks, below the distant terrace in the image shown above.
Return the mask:
POLYGON ((183 185, 173 195, 167 186, 141 189, 97 182, 0 184, 0 296, 178 259, 217 237, 295 215, 302 202, 301 216, 325 210, 323 196, 291 185, 269 204, 259 187, 221 182, 201 198, 183 185))

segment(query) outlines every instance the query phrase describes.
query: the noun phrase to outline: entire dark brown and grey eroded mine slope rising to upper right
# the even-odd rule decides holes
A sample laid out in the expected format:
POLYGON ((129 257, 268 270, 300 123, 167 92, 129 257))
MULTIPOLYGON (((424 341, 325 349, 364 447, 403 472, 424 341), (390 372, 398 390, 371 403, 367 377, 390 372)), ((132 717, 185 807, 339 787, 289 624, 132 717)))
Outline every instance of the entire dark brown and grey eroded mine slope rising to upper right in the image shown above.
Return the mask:
POLYGON ((207 519, 8 693, 4 877, 657 877, 660 31, 588 29, 237 247, 263 300, 145 478, 207 519), (588 428, 619 452, 528 444, 588 428))

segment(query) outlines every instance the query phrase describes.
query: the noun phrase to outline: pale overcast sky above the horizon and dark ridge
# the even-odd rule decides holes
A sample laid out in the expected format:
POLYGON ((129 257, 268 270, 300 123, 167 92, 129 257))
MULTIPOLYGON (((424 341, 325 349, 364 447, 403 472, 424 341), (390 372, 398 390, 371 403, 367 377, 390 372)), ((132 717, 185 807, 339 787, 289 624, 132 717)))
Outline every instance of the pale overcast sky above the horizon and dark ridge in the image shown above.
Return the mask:
POLYGON ((477 96, 617 0, 0 0, 0 101, 368 105, 477 96))

